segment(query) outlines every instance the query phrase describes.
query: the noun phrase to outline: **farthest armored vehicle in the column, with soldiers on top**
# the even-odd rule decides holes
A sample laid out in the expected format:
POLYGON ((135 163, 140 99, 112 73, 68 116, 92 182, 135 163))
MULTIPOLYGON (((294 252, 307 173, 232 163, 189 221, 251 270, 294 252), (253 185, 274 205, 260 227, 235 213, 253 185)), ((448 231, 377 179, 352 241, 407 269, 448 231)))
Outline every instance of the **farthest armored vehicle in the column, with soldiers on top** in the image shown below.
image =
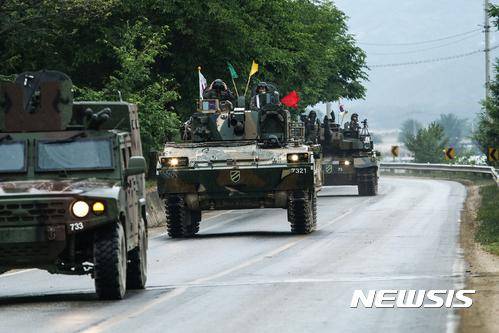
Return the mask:
POLYGON ((378 193, 379 153, 374 150, 367 126, 367 119, 358 123, 352 115, 343 128, 326 115, 322 125, 306 125, 307 136, 312 127, 319 136, 322 147, 322 183, 325 186, 356 185, 359 195, 373 196, 378 193))

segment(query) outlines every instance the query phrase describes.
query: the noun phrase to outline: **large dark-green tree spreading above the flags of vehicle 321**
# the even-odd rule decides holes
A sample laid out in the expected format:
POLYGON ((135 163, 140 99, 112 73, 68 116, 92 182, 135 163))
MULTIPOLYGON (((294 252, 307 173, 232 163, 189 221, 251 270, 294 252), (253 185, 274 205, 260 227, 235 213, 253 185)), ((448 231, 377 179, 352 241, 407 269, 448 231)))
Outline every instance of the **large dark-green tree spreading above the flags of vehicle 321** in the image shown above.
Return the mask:
POLYGON ((239 92, 255 60, 260 70, 252 85, 272 82, 283 94, 296 89, 302 107, 364 96, 365 54, 331 1, 149 0, 135 7, 170 27, 171 53, 161 70, 176 78, 185 114, 197 97, 196 68, 201 66, 209 81, 230 82, 227 61, 240 74, 239 92))

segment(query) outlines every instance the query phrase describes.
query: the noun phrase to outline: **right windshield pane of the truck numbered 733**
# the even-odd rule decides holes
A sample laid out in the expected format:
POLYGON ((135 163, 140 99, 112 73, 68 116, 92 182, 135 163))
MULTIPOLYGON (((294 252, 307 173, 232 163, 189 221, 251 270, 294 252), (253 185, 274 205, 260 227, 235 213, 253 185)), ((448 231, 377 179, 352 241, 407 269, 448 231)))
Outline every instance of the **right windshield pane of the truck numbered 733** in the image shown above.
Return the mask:
POLYGON ((37 143, 38 171, 113 169, 108 139, 41 141, 37 143))

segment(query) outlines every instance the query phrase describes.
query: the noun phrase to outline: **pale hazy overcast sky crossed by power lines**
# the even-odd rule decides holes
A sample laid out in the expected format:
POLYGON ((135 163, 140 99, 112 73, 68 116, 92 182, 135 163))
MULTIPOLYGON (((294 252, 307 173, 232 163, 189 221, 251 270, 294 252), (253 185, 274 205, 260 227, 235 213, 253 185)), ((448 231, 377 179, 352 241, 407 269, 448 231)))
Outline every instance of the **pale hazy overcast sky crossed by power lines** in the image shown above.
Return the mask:
MULTIPOLYGON (((335 3, 349 16, 350 31, 366 51, 368 65, 448 57, 484 47, 482 0, 336 0, 335 3), (456 34, 462 35, 426 43, 456 34), (419 42, 423 43, 370 45, 419 42)), ((499 42, 496 37, 494 30, 492 46, 499 42)), ((492 59, 499 56, 498 50, 491 54, 492 59)), ((344 104, 351 112, 369 118, 371 128, 379 129, 398 127, 409 117, 429 122, 448 112, 474 119, 485 93, 484 64, 481 52, 449 61, 372 68, 366 82, 366 99, 344 104)))

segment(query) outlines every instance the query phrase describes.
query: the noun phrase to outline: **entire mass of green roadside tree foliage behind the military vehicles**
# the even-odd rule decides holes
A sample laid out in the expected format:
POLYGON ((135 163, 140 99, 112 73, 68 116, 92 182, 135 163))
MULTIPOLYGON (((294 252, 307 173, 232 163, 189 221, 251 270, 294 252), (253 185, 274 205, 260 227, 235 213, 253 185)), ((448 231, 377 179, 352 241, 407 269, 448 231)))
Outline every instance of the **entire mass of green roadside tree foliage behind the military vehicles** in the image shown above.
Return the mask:
POLYGON ((77 98, 140 106, 143 134, 161 144, 197 98, 197 71, 242 92, 253 77, 297 90, 301 107, 362 98, 365 54, 332 1, 0 0, 0 75, 43 68, 66 72, 77 98))

